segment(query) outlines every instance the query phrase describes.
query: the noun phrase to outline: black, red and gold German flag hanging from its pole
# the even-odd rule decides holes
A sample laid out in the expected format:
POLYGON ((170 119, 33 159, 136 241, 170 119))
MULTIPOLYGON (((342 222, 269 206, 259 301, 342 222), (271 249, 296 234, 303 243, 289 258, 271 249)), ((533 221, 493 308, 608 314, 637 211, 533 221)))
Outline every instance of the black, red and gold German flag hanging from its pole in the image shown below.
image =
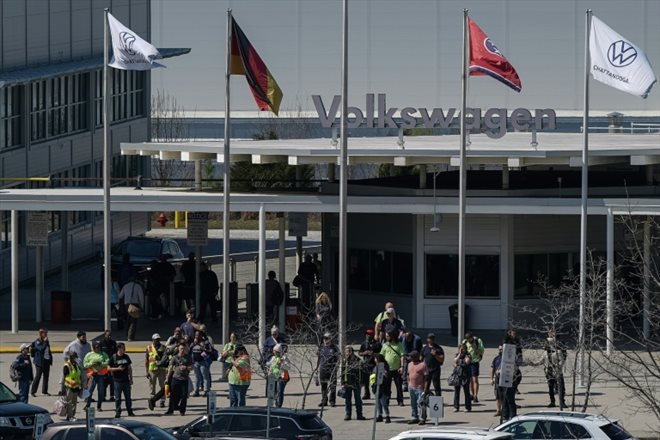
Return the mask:
POLYGON ((277 115, 282 102, 282 90, 233 17, 229 73, 245 75, 259 110, 270 110, 277 115))

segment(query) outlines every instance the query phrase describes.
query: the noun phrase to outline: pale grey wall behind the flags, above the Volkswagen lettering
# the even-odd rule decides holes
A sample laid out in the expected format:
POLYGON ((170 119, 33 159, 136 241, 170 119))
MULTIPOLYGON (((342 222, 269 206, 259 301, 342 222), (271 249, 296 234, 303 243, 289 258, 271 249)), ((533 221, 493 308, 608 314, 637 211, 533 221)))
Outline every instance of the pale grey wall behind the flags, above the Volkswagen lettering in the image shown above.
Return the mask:
MULTIPOLYGON (((154 74, 191 112, 224 111, 226 11, 251 40, 284 92, 283 110, 314 110, 310 95, 340 91, 338 0, 188 0, 153 3, 153 40, 191 47, 154 74)), ((468 104, 582 110, 585 10, 640 46, 660 75, 657 0, 357 0, 349 2, 349 105, 387 93, 402 108, 458 107, 463 8, 516 67, 517 94, 486 77, 470 81, 468 104)), ((232 110, 255 111, 245 80, 232 80, 232 110)), ((592 81, 593 110, 660 116, 660 87, 647 100, 592 81)), ((327 105, 326 105, 327 108, 327 105)))

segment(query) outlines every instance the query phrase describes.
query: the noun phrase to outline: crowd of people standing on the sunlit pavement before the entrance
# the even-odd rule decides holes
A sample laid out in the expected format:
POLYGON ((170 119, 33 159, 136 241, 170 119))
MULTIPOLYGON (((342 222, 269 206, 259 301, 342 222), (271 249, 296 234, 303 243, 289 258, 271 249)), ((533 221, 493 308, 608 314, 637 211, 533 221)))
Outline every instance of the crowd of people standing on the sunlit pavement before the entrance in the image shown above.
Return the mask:
MULTIPOLYGON (((332 304, 328 295, 321 293, 315 305, 315 331, 319 332, 322 341, 316 350, 313 372, 321 391, 319 407, 335 407, 339 396, 344 399, 345 420, 351 420, 353 412, 357 420, 365 420, 363 401, 373 396, 376 421, 390 423, 392 400, 398 406, 409 402, 409 423, 424 424, 429 397, 442 395, 443 366, 448 370, 447 383, 454 391, 454 411, 460 410, 461 401, 468 412, 473 403, 479 402, 480 365, 484 362, 485 347, 477 335, 466 333, 454 354, 446 359, 445 350, 436 343, 433 333, 428 333, 423 340, 405 326, 394 305, 388 302, 383 312, 376 316, 374 327, 365 331, 359 348, 357 344, 340 348, 335 343, 336 325, 331 319, 332 304), (383 372, 380 381, 377 380, 379 369, 383 372)), ((218 379, 228 383, 230 406, 246 404, 253 368, 258 368, 259 375, 266 379, 265 394, 272 399, 272 404, 276 407, 284 405, 285 390, 291 377, 289 370, 294 366, 287 355, 287 339, 277 325, 272 326, 255 357, 250 356, 235 332, 230 334, 221 350, 216 349, 206 326, 195 318, 194 311, 188 310, 185 316, 185 321, 165 342, 160 334, 152 335, 151 343, 144 350, 144 363, 138 360, 134 363, 126 352, 126 345, 113 339, 110 330, 91 343, 86 333, 79 331, 63 352, 64 366, 58 393, 66 408, 62 416, 74 420, 79 399, 84 401, 85 408, 95 402, 97 410, 102 410, 104 402, 113 402, 115 417, 122 416, 123 403, 126 414, 133 416, 132 387, 141 377, 135 374, 136 368, 142 365, 149 384, 148 407, 152 411, 157 405, 166 408, 166 415, 175 412, 184 415, 190 397, 206 396, 211 391, 211 367, 215 362, 222 365, 218 379)), ((556 406, 558 396, 559 406, 564 408, 563 368, 567 353, 553 332, 548 335, 544 352, 550 397, 548 406, 556 406)), ((520 338, 515 330, 509 330, 499 346, 498 355, 492 359, 489 375, 496 398, 495 415, 505 420, 517 413, 516 393, 522 380, 519 368, 522 362, 520 338), (499 386, 503 344, 511 344, 516 349, 513 387, 499 386)), ((52 364, 48 331, 42 328, 37 339, 20 346, 20 354, 11 365, 12 380, 17 383, 21 401, 27 402, 30 395, 35 396, 40 384, 42 394, 50 395, 52 364)), ((295 371, 300 373, 302 369, 295 371)))

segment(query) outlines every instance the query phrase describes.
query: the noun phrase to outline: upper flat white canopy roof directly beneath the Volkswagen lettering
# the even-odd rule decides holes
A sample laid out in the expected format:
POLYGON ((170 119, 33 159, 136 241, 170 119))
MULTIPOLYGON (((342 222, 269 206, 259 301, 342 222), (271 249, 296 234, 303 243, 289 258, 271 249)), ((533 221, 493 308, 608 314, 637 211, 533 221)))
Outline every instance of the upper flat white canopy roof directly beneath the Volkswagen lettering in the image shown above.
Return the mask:
MULTIPOLYGON (((582 154, 580 133, 538 133, 532 145, 531 133, 509 133, 501 139, 472 135, 467 159, 473 165, 508 165, 512 168, 533 165, 579 167, 582 154)), ((449 164, 458 166, 459 138, 447 136, 411 136, 403 138, 403 147, 391 137, 349 139, 349 164, 397 166, 449 164)), ((122 142, 122 154, 156 156, 160 159, 211 159, 223 162, 223 141, 191 142, 122 142)), ((339 148, 332 139, 232 140, 232 162, 254 164, 288 163, 289 165, 337 163, 339 148)), ((589 165, 660 164, 660 134, 589 135, 589 165)))

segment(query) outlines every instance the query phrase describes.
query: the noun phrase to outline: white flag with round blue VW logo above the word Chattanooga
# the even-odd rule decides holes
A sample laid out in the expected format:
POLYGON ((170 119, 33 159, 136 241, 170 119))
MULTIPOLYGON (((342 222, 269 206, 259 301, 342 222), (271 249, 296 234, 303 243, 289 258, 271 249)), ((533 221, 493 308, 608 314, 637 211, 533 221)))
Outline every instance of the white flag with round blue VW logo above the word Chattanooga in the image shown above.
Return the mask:
POLYGON ((657 81, 642 50, 596 17, 589 35, 591 75, 623 92, 646 98, 657 81))

